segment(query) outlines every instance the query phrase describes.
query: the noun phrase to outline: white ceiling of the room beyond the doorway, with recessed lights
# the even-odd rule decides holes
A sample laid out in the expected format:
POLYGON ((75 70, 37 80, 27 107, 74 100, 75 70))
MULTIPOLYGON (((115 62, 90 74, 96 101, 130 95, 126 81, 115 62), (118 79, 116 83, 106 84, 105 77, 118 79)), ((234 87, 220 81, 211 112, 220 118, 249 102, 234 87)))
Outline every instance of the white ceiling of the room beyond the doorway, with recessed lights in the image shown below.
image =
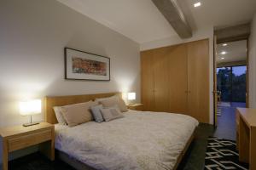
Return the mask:
POLYGON ((247 41, 242 40, 238 42, 228 42, 227 46, 218 44, 217 46, 217 63, 242 61, 247 59, 247 41), (221 52, 227 52, 227 54, 221 54, 221 52), (224 59, 221 59, 221 58, 224 59))

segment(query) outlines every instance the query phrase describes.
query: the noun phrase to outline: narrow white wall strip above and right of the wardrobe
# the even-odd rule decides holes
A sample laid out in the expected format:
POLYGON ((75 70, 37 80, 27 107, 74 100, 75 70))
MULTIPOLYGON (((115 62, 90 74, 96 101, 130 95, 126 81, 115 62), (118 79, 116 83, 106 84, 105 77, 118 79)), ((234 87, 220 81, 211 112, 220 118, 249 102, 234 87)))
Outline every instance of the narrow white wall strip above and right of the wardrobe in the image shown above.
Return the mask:
POLYGON ((210 96, 210 108, 209 108, 209 114, 210 114, 210 123, 213 124, 213 26, 207 26, 205 28, 201 28, 200 30, 197 30, 193 32, 193 37, 189 39, 181 39, 178 36, 175 37, 168 37, 165 39, 156 40, 153 42, 144 42, 141 44, 141 51, 147 50, 147 49, 153 49, 153 48, 160 48, 165 46, 170 46, 178 43, 183 42, 192 42, 196 40, 201 40, 205 38, 209 38, 209 78, 210 78, 210 90, 209 90, 209 96, 210 96))

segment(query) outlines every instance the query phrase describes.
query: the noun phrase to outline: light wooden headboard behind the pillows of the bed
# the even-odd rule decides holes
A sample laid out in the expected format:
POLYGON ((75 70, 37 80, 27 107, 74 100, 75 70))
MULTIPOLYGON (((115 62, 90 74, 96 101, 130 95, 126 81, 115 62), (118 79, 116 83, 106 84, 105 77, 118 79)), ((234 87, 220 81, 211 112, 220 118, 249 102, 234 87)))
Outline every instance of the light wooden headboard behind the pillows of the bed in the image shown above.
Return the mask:
POLYGON ((98 98, 107 98, 118 94, 121 97, 121 93, 109 93, 109 94, 84 94, 84 95, 70 95, 70 96, 46 96, 44 97, 44 121, 51 124, 57 123, 55 116, 54 106, 72 105, 76 103, 87 102, 98 98))

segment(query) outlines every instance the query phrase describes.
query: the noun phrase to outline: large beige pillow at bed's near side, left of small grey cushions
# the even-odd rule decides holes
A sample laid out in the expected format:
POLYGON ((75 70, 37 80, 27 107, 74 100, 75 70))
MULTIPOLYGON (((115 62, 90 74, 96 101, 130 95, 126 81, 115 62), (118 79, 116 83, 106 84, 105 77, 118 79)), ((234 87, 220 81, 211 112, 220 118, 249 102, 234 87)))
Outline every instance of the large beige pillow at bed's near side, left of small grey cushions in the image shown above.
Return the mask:
POLYGON ((96 104, 96 102, 89 101, 74 105, 65 105, 61 106, 61 112, 67 125, 73 127, 84 122, 92 121, 90 107, 96 104))

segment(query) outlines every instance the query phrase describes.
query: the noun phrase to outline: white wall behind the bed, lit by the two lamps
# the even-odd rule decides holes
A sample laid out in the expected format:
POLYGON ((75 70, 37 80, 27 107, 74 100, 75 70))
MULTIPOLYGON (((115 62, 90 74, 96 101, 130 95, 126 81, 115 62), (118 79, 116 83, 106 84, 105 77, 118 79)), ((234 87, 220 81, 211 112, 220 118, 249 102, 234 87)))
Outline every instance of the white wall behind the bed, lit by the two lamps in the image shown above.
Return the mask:
POLYGON ((54 0, 1 0, 0 23, 0 127, 29 121, 23 99, 128 90, 140 100, 137 42, 54 0), (110 57, 111 81, 65 80, 64 47, 110 57))

